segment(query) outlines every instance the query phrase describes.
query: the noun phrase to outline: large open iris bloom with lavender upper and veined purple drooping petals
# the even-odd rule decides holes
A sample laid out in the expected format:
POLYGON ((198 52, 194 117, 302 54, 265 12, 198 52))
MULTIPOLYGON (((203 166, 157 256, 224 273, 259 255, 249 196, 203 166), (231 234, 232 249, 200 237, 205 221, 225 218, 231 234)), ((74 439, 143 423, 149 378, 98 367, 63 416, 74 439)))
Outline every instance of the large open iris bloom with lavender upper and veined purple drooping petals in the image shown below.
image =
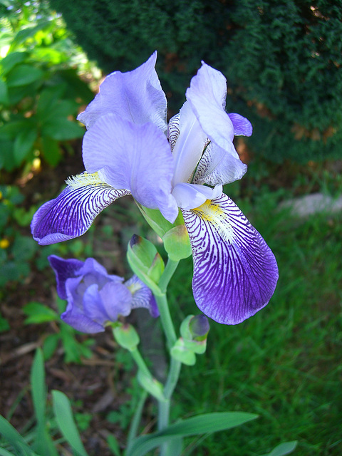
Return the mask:
POLYGON ((202 63, 180 113, 167 125, 167 101, 155 71, 157 54, 128 73, 105 78, 78 116, 86 125, 86 172, 69 178, 61 195, 38 209, 39 244, 81 236, 118 197, 133 195, 175 222, 181 209, 192 245, 192 289, 210 318, 236 324, 271 299, 278 268, 267 246, 222 185, 240 179, 234 135, 252 135, 249 120, 224 110, 227 81, 202 63))

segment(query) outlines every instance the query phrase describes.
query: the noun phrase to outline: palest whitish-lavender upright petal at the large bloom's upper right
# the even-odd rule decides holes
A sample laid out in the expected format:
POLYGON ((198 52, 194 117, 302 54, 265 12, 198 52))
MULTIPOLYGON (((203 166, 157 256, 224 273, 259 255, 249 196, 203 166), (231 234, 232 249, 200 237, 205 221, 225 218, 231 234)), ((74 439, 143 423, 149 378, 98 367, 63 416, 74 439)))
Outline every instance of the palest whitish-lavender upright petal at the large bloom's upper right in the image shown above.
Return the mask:
POLYGON ((226 78, 203 62, 186 92, 187 100, 209 140, 230 152, 234 127, 224 111, 226 94, 226 78))

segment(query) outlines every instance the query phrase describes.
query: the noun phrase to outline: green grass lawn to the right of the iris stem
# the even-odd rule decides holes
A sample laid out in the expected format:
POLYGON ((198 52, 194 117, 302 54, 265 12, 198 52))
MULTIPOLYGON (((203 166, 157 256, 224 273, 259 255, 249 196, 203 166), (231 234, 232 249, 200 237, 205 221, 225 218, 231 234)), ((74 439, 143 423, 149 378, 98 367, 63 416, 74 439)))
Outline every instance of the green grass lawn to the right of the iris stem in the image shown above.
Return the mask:
MULTIPOLYGON (((253 208, 249 219, 276 255, 279 283, 253 318, 211 323, 207 353, 182 369, 175 401, 185 416, 240 410, 259 420, 189 440, 184 456, 257 456, 287 440, 299 441, 296 456, 341 455, 342 217, 291 218, 271 192, 239 205, 247 215, 253 208)), ((197 311, 189 268, 183 261, 170 287, 181 318, 197 311)))

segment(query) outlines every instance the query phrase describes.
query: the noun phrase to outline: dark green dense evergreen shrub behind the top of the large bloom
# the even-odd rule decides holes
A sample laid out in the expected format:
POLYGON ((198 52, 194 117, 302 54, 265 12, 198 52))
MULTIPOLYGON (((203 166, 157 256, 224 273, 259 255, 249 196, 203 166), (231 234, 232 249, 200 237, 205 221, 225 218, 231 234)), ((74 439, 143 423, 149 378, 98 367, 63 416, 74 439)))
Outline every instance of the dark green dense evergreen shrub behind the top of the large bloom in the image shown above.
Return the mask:
POLYGON ((228 77, 228 110, 252 120, 249 145, 271 160, 341 156, 339 0, 50 0, 106 72, 157 49, 178 110, 201 59, 228 77))

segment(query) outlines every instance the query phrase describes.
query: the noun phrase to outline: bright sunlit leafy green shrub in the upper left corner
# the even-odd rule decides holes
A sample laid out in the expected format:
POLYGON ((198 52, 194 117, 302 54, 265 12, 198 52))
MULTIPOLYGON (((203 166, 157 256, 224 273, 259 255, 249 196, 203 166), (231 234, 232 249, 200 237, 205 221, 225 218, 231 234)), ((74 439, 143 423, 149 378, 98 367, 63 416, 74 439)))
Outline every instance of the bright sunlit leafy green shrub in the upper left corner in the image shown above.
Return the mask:
POLYGON ((93 96, 73 68, 61 19, 43 5, 26 2, 0 19, 0 169, 8 172, 37 156, 57 165, 60 143, 83 136, 75 118, 93 96))

